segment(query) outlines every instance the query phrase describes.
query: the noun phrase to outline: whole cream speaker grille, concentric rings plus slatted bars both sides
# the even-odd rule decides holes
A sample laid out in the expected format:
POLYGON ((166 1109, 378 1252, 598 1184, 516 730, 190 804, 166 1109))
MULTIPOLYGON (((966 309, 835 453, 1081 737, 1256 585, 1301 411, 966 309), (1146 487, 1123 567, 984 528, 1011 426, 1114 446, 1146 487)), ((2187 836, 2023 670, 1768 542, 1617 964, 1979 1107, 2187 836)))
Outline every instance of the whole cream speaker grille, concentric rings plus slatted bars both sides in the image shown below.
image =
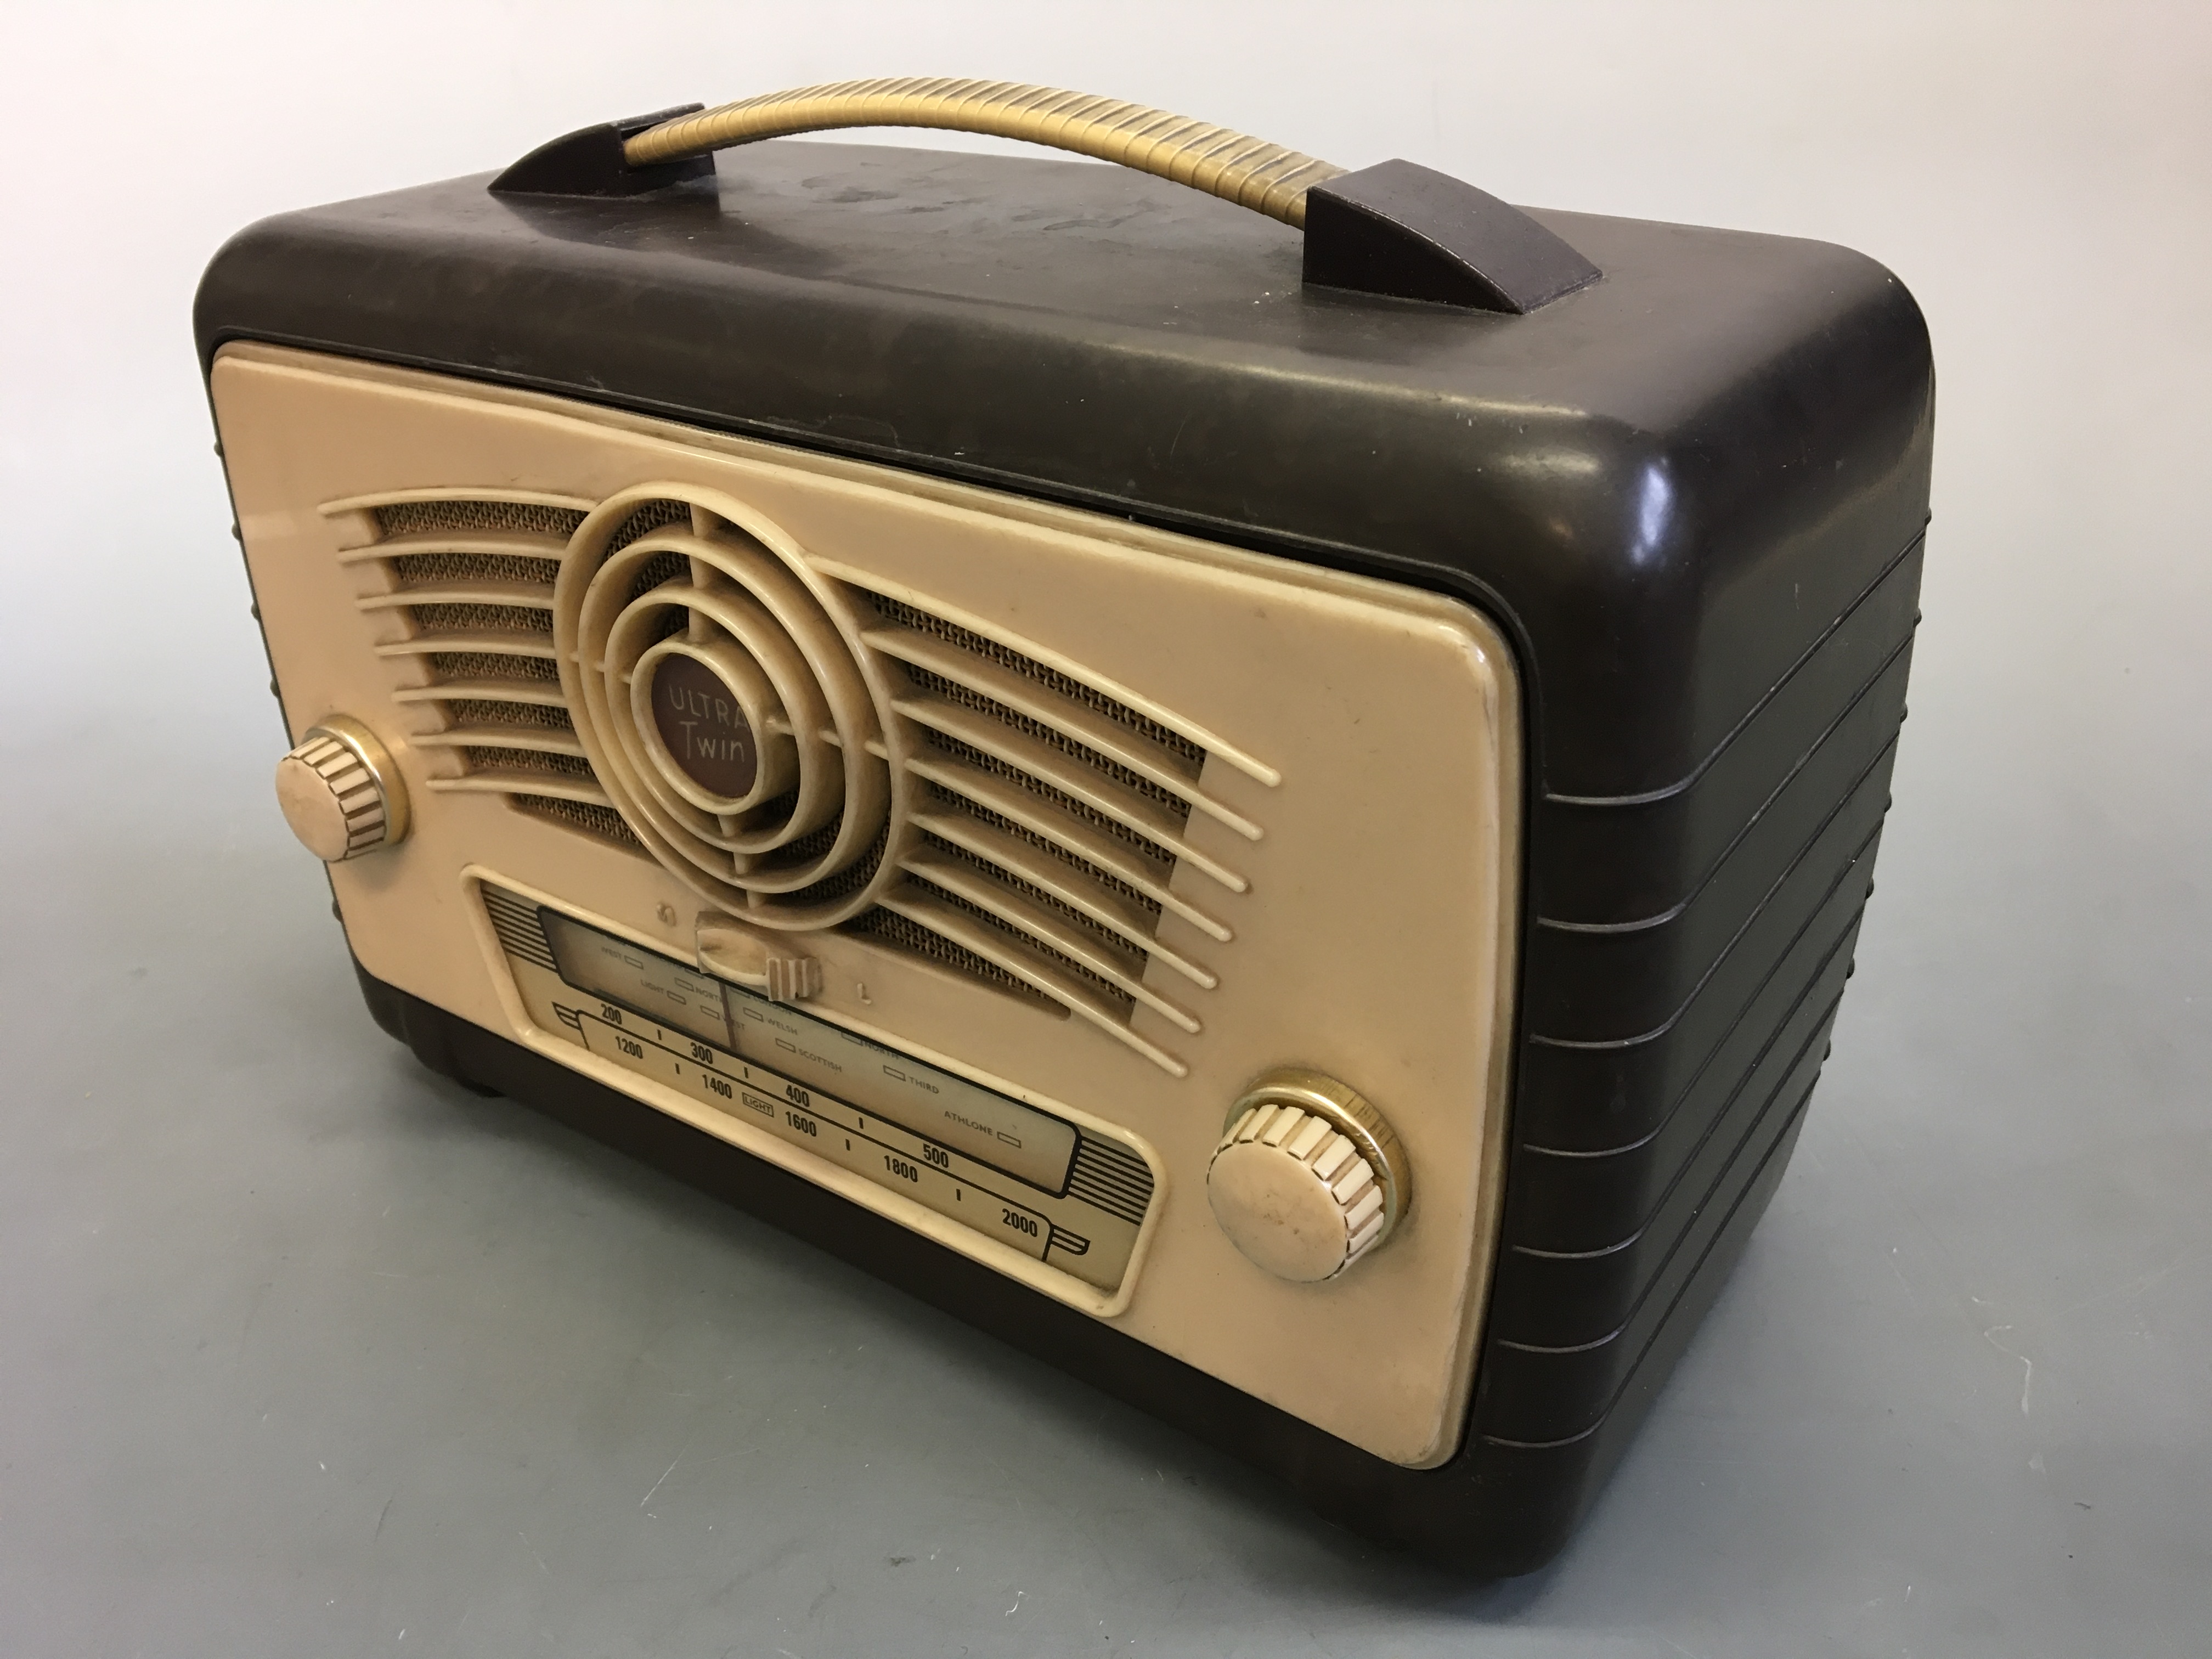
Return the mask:
POLYGON ((442 719, 414 743, 460 765, 431 792, 502 794, 752 925, 836 927, 1186 1071, 1148 1033, 1201 1031, 1245 891, 1190 821, 1259 836, 1203 787, 1199 728, 823 577, 712 491, 338 509, 378 533, 341 555, 383 573, 361 608, 405 624, 378 650, 420 684, 394 699, 442 719))

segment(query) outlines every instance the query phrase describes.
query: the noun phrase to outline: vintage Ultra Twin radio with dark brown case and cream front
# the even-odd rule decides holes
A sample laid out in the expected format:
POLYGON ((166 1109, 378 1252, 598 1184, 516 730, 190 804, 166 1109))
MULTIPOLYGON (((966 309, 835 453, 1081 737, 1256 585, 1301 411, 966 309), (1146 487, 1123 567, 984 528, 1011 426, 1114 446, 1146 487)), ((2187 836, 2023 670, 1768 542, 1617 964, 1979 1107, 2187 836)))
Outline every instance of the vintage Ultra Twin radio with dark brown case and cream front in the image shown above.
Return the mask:
POLYGON ((1893 276, 858 82, 263 221, 197 325, 387 1031, 1354 1528, 1562 1544, 1851 969, 1893 276), (1126 166, 759 142, 889 124, 1126 166))

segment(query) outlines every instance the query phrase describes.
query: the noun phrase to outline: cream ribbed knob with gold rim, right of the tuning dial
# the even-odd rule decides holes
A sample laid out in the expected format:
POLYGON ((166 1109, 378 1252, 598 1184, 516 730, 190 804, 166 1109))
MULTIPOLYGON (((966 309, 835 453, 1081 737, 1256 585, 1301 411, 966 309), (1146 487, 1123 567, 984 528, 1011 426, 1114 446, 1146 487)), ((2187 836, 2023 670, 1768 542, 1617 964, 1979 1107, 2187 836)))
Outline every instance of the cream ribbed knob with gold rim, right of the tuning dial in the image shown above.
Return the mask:
POLYGON ((1206 1170, 1206 1199, 1230 1243, 1305 1285, 1380 1245, 1409 1194, 1405 1148, 1383 1113, 1305 1066, 1252 1079, 1206 1170))

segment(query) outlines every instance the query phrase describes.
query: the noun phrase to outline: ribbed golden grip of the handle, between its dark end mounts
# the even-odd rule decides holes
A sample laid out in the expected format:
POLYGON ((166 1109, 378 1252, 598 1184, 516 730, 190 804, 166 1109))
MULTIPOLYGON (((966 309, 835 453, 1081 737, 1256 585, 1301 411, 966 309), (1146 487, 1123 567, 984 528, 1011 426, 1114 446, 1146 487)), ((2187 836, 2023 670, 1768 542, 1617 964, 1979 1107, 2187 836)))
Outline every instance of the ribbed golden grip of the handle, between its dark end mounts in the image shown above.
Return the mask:
POLYGON ((938 126, 1048 144, 1157 173, 1287 226, 1305 223, 1307 188, 1345 170, 1281 144, 1119 97, 1009 80, 925 77, 841 80, 741 97, 646 128, 622 146, 622 159, 639 168, 841 126, 938 126))

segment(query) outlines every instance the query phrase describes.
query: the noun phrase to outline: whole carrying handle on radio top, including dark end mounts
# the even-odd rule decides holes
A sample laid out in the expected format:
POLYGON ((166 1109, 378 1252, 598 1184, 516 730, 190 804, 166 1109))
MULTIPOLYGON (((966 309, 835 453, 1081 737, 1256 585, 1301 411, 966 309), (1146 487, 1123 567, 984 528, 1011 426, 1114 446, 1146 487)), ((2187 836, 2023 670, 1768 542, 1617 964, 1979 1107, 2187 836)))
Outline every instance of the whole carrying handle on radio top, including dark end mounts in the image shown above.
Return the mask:
POLYGON ((1026 139, 1152 173, 1305 230, 1310 288, 1533 312, 1599 270, 1535 219, 1411 161, 1349 173, 1115 97, 1002 80, 847 80, 586 126, 515 161, 500 195, 641 195, 739 144, 852 126, 1026 139))

